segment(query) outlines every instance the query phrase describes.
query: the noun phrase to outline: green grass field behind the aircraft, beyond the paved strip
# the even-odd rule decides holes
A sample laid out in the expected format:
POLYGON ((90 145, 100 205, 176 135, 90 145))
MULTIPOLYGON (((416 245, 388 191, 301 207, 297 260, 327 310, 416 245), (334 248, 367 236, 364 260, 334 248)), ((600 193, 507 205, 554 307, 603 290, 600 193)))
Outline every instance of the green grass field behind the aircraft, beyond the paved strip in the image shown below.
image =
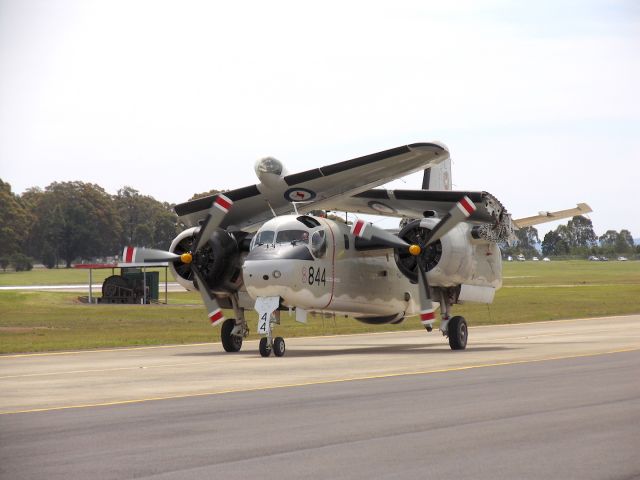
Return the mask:
MULTIPOLYGON (((105 271, 111 274, 111 271, 105 271)), ((3 285, 86 283, 86 271, 37 270, 0 274, 3 285)), ((170 293, 169 305, 86 305, 77 293, 0 292, 0 353, 219 341, 197 293, 170 293)), ((459 305, 470 325, 505 324, 640 313, 640 262, 505 263, 504 287, 491 305, 459 305)), ((248 315, 255 329, 253 312, 248 315)), ((369 326, 345 318, 297 324, 286 312, 284 337, 419 329, 369 326)), ((255 335, 252 335, 255 338, 255 335)))

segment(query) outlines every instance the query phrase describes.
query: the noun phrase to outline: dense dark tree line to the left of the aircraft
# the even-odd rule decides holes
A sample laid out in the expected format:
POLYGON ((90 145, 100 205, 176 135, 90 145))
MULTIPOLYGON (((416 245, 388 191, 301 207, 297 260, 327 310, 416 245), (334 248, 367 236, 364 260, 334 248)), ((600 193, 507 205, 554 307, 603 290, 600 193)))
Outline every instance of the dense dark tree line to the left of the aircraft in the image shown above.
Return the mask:
POLYGON ((125 245, 168 249, 184 228, 173 207, 127 186, 110 195, 93 183, 54 182, 17 195, 0 179, 0 267, 70 267, 125 245))

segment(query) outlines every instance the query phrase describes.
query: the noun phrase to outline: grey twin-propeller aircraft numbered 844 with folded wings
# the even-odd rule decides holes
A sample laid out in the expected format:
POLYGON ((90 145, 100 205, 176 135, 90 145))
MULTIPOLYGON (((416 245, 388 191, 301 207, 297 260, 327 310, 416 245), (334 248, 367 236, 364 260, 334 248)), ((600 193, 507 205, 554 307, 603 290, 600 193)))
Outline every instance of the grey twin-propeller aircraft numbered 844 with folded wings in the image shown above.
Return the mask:
POLYGON ((188 290, 198 290, 222 345, 237 352, 249 333, 245 310, 258 313, 260 354, 285 353, 273 336, 288 310, 350 315, 365 323, 399 323, 418 315, 453 350, 467 345, 467 322, 452 316, 463 302, 491 303, 502 285, 498 243, 514 228, 590 212, 586 204, 512 220, 487 192, 451 191, 449 151, 415 143, 289 174, 282 163, 256 163, 260 183, 176 206, 187 226, 168 252, 127 247, 126 261, 169 261, 188 290), (421 190, 374 187, 424 170, 421 190), (407 219, 398 233, 363 220, 347 225, 312 211, 407 219), (413 219, 413 220, 412 220, 413 219), (233 310, 225 319, 222 309, 233 310))

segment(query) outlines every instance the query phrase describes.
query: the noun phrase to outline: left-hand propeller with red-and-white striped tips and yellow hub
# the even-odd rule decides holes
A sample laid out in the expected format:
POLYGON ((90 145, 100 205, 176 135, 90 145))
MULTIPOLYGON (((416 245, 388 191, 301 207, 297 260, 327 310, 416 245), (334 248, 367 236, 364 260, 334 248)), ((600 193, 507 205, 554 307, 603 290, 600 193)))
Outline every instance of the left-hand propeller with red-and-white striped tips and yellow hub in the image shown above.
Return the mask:
POLYGON ((197 266, 197 262, 194 262, 194 258, 198 252, 207 244, 207 241, 213 234, 216 228, 218 228, 224 217, 229 213, 233 201, 227 196, 218 194, 213 201, 213 205, 209 208, 207 217, 205 218, 200 231, 193 242, 191 251, 184 252, 181 255, 177 255, 165 250, 156 250, 153 248, 141 248, 141 247, 125 247, 122 253, 122 258, 127 263, 147 263, 147 262, 182 262, 184 265, 189 265, 195 280, 198 282, 198 291, 202 297, 202 301, 207 309, 207 315, 211 321, 211 325, 218 325, 224 321, 224 314, 215 297, 211 295, 209 288, 207 287, 207 281, 202 275, 202 272, 197 266))

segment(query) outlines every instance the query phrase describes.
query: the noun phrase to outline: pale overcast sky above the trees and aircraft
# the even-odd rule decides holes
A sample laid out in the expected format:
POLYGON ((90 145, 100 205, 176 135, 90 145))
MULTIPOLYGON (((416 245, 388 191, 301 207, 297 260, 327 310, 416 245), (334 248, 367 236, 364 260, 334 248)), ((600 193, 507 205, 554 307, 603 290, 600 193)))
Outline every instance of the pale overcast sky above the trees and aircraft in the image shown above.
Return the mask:
POLYGON ((0 0, 0 178, 180 203, 439 140, 454 189, 638 238, 639 85, 635 0, 0 0))

